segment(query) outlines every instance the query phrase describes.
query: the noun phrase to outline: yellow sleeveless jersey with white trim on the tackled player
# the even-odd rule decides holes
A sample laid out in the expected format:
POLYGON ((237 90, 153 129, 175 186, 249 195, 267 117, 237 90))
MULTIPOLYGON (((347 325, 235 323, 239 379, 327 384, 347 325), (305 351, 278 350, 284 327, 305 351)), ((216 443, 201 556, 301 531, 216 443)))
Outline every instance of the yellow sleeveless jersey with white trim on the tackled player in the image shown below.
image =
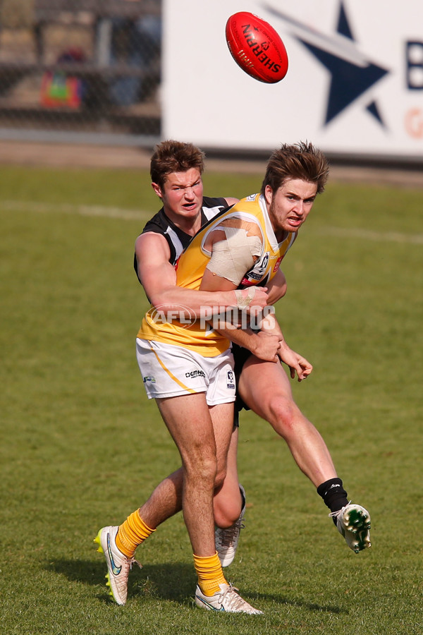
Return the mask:
MULTIPOLYGON (((192 238, 176 264, 178 286, 185 289, 200 289, 204 270, 212 256, 209 243, 214 232, 220 228, 244 229, 244 234, 259 236, 262 243, 261 254, 245 273, 240 283, 241 289, 257 284, 266 286, 276 274, 283 257, 297 237, 296 233, 288 234, 283 242, 278 243, 267 214, 264 197, 259 194, 250 195, 214 217, 192 238)), ((220 231, 222 232, 221 229, 220 231)), ((184 309, 186 308, 181 307, 180 312, 176 309, 169 314, 162 312, 159 307, 150 308, 142 320, 137 337, 184 346, 204 357, 214 357, 228 349, 230 342, 226 337, 212 329, 204 317, 189 320, 186 312, 183 313, 184 309)), ((209 309, 205 308, 204 316, 210 316, 209 309)))

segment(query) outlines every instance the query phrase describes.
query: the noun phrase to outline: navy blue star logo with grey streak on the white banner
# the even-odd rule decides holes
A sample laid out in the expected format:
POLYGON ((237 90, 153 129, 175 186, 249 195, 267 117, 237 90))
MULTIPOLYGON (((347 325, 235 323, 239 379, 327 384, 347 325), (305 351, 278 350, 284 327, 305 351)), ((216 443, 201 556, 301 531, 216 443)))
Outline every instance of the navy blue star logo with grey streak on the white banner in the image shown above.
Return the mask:
MULTIPOLYGON (((332 37, 301 24, 295 18, 290 18, 286 13, 267 4, 264 4, 264 7, 274 16, 285 20, 290 25, 293 37, 331 73, 325 126, 389 72, 360 52, 345 13, 343 0, 339 5, 336 34, 332 37)), ((366 109, 382 127, 386 127, 374 99, 370 99, 366 109)))

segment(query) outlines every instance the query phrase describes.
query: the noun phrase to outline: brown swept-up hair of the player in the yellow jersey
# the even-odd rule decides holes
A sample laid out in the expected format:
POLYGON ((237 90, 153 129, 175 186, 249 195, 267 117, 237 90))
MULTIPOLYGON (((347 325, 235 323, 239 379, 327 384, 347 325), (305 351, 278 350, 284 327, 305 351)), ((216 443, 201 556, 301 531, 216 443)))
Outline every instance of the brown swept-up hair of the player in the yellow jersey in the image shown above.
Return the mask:
POLYGON ((275 150, 267 163, 261 193, 266 186, 276 192, 287 179, 302 179, 317 183, 317 193, 324 191, 329 176, 329 162, 323 152, 311 143, 284 143, 275 150))

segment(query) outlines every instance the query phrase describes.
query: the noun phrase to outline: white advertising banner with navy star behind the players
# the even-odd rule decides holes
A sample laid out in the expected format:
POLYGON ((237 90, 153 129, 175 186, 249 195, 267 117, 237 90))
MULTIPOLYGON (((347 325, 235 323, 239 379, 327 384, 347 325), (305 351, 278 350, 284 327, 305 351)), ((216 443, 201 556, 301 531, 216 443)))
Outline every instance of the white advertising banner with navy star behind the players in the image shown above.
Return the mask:
POLYGON ((423 159, 423 1, 164 0, 163 138, 423 159), (269 22, 286 77, 259 82, 228 51, 228 17, 269 22))

